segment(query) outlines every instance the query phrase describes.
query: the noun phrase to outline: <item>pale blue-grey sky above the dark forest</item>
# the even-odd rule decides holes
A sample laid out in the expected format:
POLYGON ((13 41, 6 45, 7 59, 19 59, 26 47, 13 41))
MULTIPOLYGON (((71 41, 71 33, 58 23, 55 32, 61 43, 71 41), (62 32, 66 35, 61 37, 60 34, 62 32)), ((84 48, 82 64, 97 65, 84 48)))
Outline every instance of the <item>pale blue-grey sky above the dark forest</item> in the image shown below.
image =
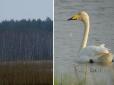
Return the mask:
POLYGON ((0 21, 53 19, 53 0, 0 0, 0 21))

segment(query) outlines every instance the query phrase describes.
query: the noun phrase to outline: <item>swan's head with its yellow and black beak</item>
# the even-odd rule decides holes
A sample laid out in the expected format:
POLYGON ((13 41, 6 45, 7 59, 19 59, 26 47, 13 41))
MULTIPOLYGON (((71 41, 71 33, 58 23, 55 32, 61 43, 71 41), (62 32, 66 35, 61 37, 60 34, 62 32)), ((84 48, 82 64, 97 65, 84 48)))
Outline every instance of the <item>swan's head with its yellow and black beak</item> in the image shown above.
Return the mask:
POLYGON ((89 15, 87 12, 81 11, 81 12, 73 15, 68 20, 80 20, 80 21, 86 22, 87 20, 89 20, 89 15))

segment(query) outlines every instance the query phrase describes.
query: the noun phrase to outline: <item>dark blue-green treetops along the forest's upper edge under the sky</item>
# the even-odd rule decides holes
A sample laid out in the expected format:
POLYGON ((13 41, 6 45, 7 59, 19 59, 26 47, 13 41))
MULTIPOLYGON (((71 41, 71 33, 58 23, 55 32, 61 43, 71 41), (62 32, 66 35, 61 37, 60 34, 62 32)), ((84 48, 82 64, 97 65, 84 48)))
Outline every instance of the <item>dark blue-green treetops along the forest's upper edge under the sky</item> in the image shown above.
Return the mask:
POLYGON ((33 19, 26 20, 4 20, 0 23, 0 31, 4 30, 15 30, 15 31, 35 31, 35 30, 45 30, 53 31, 53 21, 47 17, 46 20, 33 19))

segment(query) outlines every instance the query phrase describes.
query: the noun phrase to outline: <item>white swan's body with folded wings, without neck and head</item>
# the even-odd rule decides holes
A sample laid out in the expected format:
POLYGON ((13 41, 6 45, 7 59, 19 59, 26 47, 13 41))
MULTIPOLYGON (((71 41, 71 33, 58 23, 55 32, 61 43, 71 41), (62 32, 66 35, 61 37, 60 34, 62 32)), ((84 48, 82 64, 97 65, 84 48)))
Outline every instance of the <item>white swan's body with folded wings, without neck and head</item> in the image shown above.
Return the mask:
POLYGON ((82 61, 112 62, 112 53, 109 52, 104 44, 100 46, 87 46, 80 50, 79 56, 82 61))

